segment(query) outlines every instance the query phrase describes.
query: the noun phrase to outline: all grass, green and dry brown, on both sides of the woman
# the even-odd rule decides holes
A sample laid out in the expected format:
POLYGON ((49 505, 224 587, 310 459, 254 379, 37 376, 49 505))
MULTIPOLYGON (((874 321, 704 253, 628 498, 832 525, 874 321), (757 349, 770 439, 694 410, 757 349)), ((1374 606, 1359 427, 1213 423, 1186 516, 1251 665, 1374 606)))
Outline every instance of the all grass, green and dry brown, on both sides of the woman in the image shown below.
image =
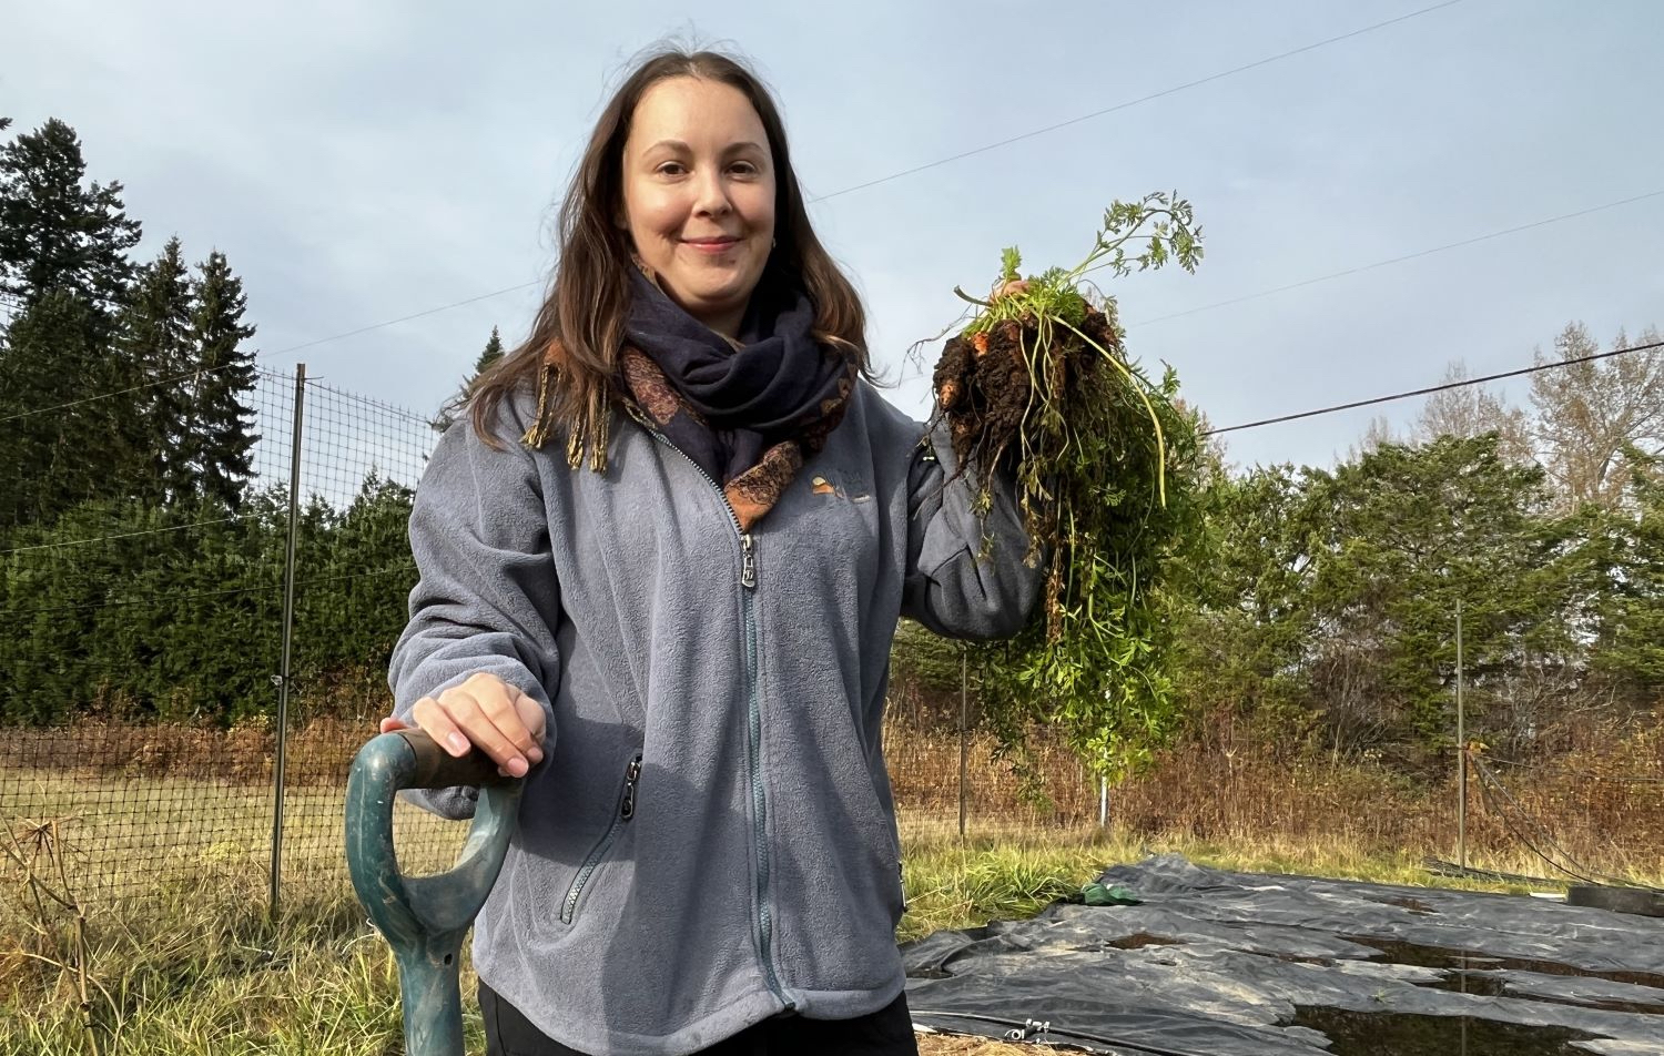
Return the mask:
MULTIPOLYGON (((1090 823, 1095 782, 1065 757, 1047 762, 1048 807, 1020 805, 1012 778, 975 765, 970 838, 960 840, 953 782, 942 778, 957 772, 957 742, 912 733, 889 737, 887 747, 910 900, 899 933, 904 941, 1032 915, 1105 866, 1151 851, 1241 871, 1524 891, 1421 870, 1429 850, 1453 856, 1438 813, 1448 813, 1451 797, 1439 787, 1416 788, 1364 770, 1278 770, 1243 765, 1240 755, 1196 757, 1115 790, 1112 812, 1122 825, 1105 831, 1090 823)), ((987 758, 983 745, 973 752, 987 758)), ((1577 782, 1521 782, 1521 788, 1546 805, 1559 803, 1559 815, 1544 817, 1581 820, 1558 830, 1574 850, 1607 848, 1606 856, 1587 858, 1592 865, 1664 883, 1656 850, 1616 850, 1657 846, 1651 831, 1664 813, 1654 810, 1652 787, 1577 782), (1601 788, 1612 795, 1596 795, 1601 788)), ((366 926, 341 865, 341 790, 326 785, 288 797, 283 926, 273 928, 266 920, 266 788, 0 768, 0 823, 58 823, 62 841, 33 875, 63 896, 62 903, 33 900, 27 871, 17 861, 7 868, 0 855, 0 1056, 401 1051, 391 955, 366 926), (85 955, 78 911, 85 913, 85 955)), ((464 827, 404 810, 398 831, 406 866, 431 870, 449 861, 464 827)), ((1483 815, 1471 820, 1476 861, 1503 871, 1546 871, 1496 833, 1483 815)), ((463 971, 466 994, 473 988, 466 958, 463 971)), ((478 1013, 471 1001, 464 1008, 471 1051, 479 1051, 478 1013)), ((1020 1051, 952 1038, 927 1038, 922 1048, 929 1056, 1020 1051)))

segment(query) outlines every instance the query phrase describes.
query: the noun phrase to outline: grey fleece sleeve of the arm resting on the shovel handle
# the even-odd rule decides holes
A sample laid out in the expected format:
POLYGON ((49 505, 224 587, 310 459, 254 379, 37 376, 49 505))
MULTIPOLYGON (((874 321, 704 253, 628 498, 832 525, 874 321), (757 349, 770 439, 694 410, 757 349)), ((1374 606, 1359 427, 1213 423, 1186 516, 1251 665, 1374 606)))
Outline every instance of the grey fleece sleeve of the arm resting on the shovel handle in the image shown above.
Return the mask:
MULTIPOLYGON (((504 419, 509 416, 504 414, 504 419)), ((559 585, 549 522, 531 452, 508 424, 493 449, 464 416, 439 441, 416 489, 409 519, 418 582, 409 624, 393 649, 393 713, 409 722, 476 672, 489 672, 542 705, 544 757, 552 757, 551 687, 559 682, 554 642, 559 585)), ((446 817, 473 815, 478 790, 414 797, 446 817)))

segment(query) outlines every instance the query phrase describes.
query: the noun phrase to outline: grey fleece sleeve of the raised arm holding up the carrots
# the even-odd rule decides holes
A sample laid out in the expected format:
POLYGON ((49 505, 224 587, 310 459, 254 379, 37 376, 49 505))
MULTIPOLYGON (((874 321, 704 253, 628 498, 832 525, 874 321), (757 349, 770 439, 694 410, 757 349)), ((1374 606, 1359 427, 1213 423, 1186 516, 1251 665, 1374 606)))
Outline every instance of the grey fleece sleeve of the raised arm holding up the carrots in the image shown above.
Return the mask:
POLYGON ((1023 560, 1028 534, 1015 477, 1000 474, 990 489, 992 509, 978 514, 977 469, 953 479, 955 467, 945 426, 914 451, 902 615, 945 637, 1008 639, 1028 622, 1045 562, 1030 567, 1023 560))

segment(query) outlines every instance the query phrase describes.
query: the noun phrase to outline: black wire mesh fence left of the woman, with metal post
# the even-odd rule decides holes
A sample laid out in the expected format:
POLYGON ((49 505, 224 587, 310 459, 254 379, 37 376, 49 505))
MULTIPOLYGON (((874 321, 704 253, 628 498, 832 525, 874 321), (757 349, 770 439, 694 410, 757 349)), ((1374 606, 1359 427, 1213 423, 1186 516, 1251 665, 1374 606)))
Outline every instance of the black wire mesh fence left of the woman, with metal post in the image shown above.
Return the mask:
MULTIPOLYGON (((404 521, 436 434, 275 371, 246 402, 238 502, 88 504, 0 552, 0 825, 15 851, 55 823, 87 905, 280 861, 280 881, 344 883, 346 770, 386 710, 416 580, 404 521)), ((456 827, 399 812, 408 865, 446 861, 456 827)))

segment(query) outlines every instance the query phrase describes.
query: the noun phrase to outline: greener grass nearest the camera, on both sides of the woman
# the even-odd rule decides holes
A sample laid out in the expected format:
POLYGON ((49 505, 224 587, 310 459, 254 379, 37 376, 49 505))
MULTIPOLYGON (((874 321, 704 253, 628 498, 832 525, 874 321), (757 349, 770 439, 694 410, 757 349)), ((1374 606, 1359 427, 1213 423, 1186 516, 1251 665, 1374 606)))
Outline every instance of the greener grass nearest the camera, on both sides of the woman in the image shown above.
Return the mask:
MULTIPOLYGON (((1127 833, 1073 830, 960 841, 952 818, 914 818, 904 831, 910 905, 899 938, 1028 916, 1146 850, 1175 850, 1223 868, 1428 883, 1408 858, 1371 855, 1340 840, 1328 846, 1175 840, 1146 848, 1127 833)), ((0 1053, 398 1053, 391 955, 366 928, 339 870, 298 871, 285 906, 285 926, 271 928, 260 871, 216 868, 95 913, 90 966, 100 996, 88 1009, 92 1028, 73 998, 70 971, 22 960, 22 948, 0 955, 0 1053)), ((5 935, 13 933, 17 906, 8 913, 5 935)), ((53 955, 48 945, 45 956, 62 963, 63 951, 53 955)), ((471 988, 464 961, 464 993, 471 988)), ((471 1051, 479 1051, 478 1013, 469 1008, 468 1016, 471 1051)), ((925 1039, 932 1056, 1000 1051, 987 1043, 925 1039)))

